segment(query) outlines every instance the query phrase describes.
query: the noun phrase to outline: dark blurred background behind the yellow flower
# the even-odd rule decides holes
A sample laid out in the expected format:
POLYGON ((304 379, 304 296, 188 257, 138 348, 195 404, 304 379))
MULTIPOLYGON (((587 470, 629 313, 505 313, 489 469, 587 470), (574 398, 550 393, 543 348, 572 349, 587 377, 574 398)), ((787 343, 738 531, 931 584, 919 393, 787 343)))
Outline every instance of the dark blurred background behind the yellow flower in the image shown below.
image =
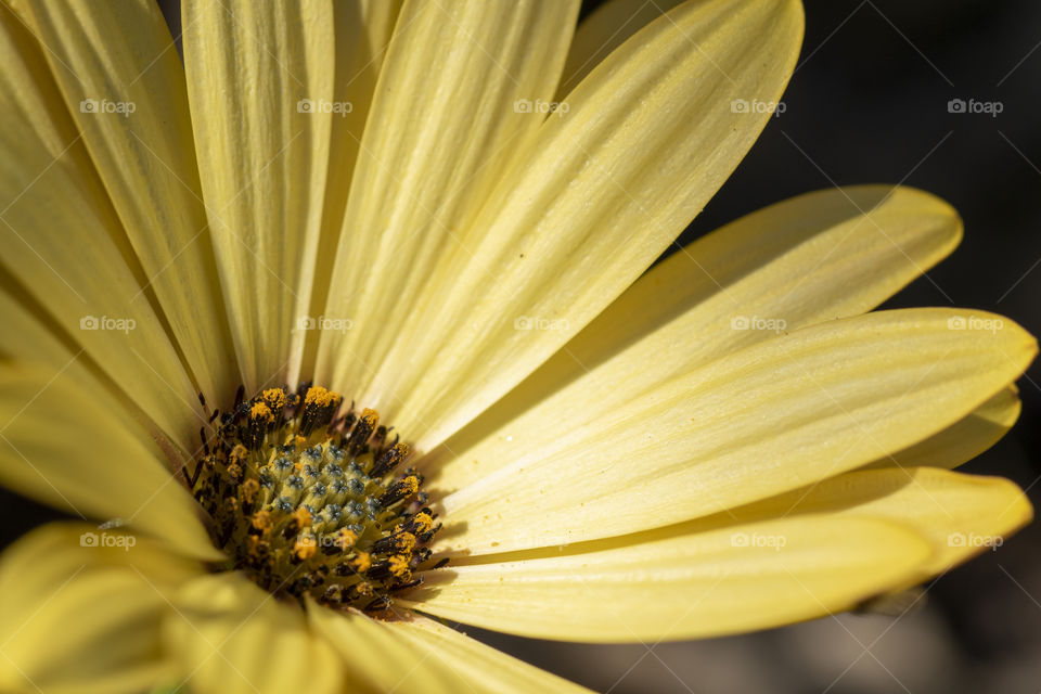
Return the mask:
MULTIPOLYGON (((1041 334, 1041 3, 804 2, 806 40, 784 113, 771 119, 681 243, 811 190, 914 185, 960 210, 965 240, 928 279, 887 307, 986 309, 1041 334), (952 113, 948 104, 955 99, 1000 104, 990 108, 1000 113, 952 113)), ((168 16, 177 16, 176 0, 162 4, 168 16)), ((599 4, 587 2, 583 15, 599 4)), ((1041 505, 1039 384, 1036 363, 1019 383, 1019 423, 963 467, 1012 478, 1036 506, 1041 505)), ((2 490, 0 507, 3 544, 55 517, 2 490)), ((745 637, 617 646, 466 631, 615 694, 1033 694, 1041 691, 1039 548, 1036 524, 940 577, 927 587, 923 608, 896 619, 844 615, 745 637)))

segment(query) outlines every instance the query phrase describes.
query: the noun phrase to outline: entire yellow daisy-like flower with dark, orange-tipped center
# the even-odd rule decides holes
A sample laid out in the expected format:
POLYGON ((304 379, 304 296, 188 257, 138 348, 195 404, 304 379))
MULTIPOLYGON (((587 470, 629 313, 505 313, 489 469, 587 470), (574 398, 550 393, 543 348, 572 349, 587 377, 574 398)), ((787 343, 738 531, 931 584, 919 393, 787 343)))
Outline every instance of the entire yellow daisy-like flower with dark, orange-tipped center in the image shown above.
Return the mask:
POLYGON ((0 558, 0 687, 568 689, 430 616, 733 633, 1029 519, 949 468, 1033 338, 868 312, 942 201, 810 193, 647 270, 801 37, 668 4, 188 0, 183 65, 146 2, 0 8, 0 478, 103 522, 0 558))

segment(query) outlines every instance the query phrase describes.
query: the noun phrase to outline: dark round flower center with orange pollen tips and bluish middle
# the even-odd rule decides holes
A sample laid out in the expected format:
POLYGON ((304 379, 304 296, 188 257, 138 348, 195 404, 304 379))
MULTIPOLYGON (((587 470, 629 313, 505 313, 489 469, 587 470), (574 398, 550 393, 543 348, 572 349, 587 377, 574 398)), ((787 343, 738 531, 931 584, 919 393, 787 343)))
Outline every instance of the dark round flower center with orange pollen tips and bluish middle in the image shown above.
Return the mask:
POLYGON ((342 403, 309 384, 250 400, 240 387, 234 407, 210 416, 216 439, 202 430, 194 474, 183 472, 230 557, 224 568, 279 596, 382 612, 420 583, 412 573, 441 525, 424 505, 423 476, 395 472, 409 447, 387 440, 375 410, 342 403))

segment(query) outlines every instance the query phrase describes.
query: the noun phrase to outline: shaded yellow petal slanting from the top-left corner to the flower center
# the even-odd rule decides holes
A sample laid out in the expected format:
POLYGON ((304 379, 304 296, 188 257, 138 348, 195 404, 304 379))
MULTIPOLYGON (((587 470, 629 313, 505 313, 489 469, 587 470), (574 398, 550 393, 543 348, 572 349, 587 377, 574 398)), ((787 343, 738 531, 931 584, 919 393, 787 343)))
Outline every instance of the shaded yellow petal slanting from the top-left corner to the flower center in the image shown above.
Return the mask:
POLYGON ((239 378, 206 229, 184 69, 159 8, 46 0, 34 3, 33 13, 68 112, 196 384, 207 394, 232 393, 239 378))

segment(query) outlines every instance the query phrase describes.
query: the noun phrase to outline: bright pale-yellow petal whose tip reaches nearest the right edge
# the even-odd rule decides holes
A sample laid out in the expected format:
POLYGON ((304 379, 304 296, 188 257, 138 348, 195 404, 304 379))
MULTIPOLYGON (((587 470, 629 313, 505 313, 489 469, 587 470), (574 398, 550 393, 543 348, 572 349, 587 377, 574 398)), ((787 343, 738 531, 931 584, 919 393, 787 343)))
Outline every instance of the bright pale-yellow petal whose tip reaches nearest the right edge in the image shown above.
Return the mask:
POLYGON ((487 553, 609 537, 811 484, 953 424, 1036 354, 1012 321, 951 309, 795 331, 673 378, 549 454, 448 496, 446 518, 464 530, 442 545, 487 553))

